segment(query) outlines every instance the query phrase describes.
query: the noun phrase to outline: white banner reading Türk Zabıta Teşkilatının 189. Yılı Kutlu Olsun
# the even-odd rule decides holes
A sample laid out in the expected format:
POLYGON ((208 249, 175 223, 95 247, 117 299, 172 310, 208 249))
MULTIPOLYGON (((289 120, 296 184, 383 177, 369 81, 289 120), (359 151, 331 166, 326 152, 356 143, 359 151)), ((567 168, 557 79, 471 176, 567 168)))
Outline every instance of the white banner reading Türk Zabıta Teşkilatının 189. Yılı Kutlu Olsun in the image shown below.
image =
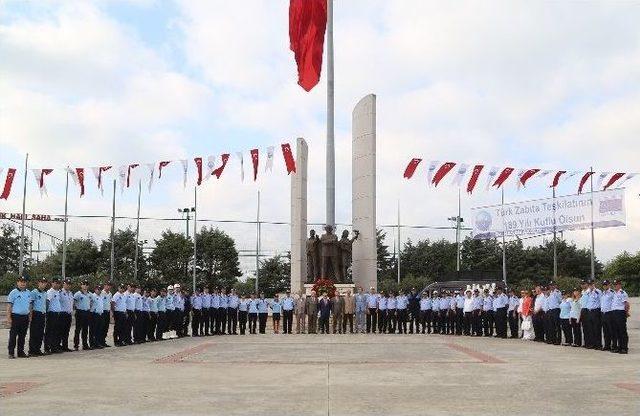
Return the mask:
MULTIPOLYGON (((471 209, 476 239, 520 237, 591 228, 592 194, 567 195, 471 209)), ((593 228, 626 223, 624 189, 593 193, 593 228)))

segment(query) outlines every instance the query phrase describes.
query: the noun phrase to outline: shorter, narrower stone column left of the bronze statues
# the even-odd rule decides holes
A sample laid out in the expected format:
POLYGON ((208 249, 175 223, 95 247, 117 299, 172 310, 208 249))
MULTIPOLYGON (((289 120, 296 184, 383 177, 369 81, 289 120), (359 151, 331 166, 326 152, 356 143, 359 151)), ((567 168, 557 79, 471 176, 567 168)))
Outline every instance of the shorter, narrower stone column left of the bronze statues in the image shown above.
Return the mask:
POLYGON ((291 174, 291 291, 303 289, 307 280, 307 156, 303 138, 296 146, 296 172, 291 174))

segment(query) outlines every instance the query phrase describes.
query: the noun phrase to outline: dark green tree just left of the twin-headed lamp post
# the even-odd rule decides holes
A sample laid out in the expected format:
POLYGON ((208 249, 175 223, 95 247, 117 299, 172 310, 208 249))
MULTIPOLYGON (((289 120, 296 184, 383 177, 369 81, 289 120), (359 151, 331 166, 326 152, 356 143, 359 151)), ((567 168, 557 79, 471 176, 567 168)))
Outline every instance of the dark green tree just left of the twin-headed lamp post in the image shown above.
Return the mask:
POLYGON ((152 273, 150 283, 173 284, 176 281, 191 287, 188 266, 193 256, 193 242, 182 233, 163 231, 155 240, 155 248, 149 256, 152 273))

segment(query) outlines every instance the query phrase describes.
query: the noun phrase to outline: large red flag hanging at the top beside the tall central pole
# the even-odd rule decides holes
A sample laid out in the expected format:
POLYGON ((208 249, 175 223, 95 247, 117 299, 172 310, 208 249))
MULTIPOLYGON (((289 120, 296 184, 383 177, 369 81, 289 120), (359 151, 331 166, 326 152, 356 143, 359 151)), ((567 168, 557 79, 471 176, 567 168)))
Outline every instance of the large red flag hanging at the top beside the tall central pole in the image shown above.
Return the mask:
POLYGON ((298 84, 311 91, 320 80, 327 0, 290 0, 289 42, 298 65, 298 84))

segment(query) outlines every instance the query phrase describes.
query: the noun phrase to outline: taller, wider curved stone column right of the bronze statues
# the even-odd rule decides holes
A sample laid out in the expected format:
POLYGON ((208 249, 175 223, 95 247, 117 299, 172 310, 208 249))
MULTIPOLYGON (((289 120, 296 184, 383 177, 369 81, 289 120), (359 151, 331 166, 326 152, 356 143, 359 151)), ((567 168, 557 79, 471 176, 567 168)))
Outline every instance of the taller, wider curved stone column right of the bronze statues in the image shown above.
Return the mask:
POLYGON ((360 231, 353 243, 353 282, 377 288, 376 244, 376 96, 358 102, 352 115, 352 224, 360 231))

